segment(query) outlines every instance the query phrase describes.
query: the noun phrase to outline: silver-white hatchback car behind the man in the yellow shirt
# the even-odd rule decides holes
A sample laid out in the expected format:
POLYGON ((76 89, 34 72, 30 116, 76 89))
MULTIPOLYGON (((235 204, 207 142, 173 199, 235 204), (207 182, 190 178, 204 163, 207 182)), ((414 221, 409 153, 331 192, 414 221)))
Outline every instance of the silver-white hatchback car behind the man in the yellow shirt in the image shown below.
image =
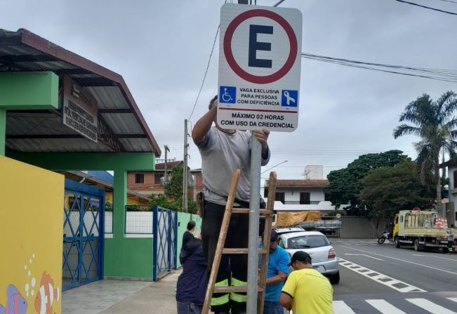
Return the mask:
POLYGON ((305 251, 312 258, 312 267, 322 275, 329 277, 331 284, 340 282, 340 270, 336 251, 329 240, 319 231, 300 231, 291 228, 290 233, 278 229, 279 246, 284 248, 290 256, 296 251, 305 251))

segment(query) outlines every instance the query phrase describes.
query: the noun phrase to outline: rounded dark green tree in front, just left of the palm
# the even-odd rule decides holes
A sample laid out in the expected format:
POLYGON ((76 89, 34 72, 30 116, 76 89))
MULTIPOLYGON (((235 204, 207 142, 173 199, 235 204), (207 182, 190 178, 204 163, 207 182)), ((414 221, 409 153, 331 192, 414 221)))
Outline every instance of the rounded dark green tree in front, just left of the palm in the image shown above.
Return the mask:
POLYGON ((360 200, 369 217, 392 221, 400 210, 430 209, 433 192, 420 183, 417 165, 411 160, 369 171, 362 179, 360 200))

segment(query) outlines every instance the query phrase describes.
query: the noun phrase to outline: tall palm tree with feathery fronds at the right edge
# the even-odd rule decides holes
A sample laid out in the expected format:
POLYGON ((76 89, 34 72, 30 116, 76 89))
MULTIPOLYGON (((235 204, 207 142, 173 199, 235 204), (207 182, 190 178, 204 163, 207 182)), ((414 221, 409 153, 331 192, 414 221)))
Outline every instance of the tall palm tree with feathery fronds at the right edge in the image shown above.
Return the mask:
MULTIPOLYGON (((457 149, 457 95, 446 91, 437 100, 426 93, 406 105, 400 115, 401 124, 394 129, 394 138, 413 134, 420 137, 414 148, 418 152, 416 163, 420 181, 424 185, 435 184, 437 209, 442 209, 441 184, 439 181, 439 153, 456 157, 457 149)), ((442 210, 444 216, 444 210, 442 210)))

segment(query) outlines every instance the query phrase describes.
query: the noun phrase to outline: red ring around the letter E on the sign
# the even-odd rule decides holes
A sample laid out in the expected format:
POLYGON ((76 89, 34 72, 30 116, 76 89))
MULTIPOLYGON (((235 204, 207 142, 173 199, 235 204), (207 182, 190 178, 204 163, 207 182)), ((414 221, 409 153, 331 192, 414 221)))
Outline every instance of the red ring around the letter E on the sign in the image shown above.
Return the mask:
POLYGON ((227 27, 227 30, 225 31, 225 36, 224 36, 224 53, 225 53, 225 58, 227 59, 228 65, 232 68, 233 72, 238 74, 241 79, 246 79, 246 81, 250 81, 251 83, 256 83, 256 84, 268 84, 272 83, 274 81, 277 81, 278 79, 281 79, 284 77, 284 75, 291 70, 293 63, 295 63, 295 59, 297 56, 297 37, 295 36, 295 32, 293 32, 293 29, 289 22, 284 20, 281 15, 274 13, 272 11, 267 11, 263 9, 255 9, 255 10, 250 10, 246 11, 244 13, 241 13, 238 15, 236 18, 230 22, 230 24, 227 27), (234 31, 237 29, 237 27, 241 24, 241 22, 244 22, 248 18, 254 18, 256 16, 261 16, 263 18, 270 18, 271 20, 276 21, 279 25, 284 28, 286 31, 287 37, 289 37, 289 46, 290 46, 290 51, 289 51, 289 57, 286 60, 286 63, 282 66, 281 69, 277 70, 277 72, 274 72, 273 74, 270 75, 265 75, 263 77, 260 77, 258 75, 253 75, 249 74, 248 72, 244 71, 241 69, 241 67, 238 65, 237 61, 233 57, 232 53, 232 37, 234 31))

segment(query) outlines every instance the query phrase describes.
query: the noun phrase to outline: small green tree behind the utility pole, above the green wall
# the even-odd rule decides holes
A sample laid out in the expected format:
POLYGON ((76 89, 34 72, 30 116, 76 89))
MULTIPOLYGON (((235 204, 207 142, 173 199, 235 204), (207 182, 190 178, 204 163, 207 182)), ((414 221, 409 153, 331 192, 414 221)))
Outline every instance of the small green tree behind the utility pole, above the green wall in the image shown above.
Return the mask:
MULTIPOLYGON (((164 195, 152 196, 150 204, 183 211, 183 166, 171 169, 171 178, 164 186, 164 195)), ((197 214, 197 203, 187 199, 187 209, 190 214, 197 214)))

